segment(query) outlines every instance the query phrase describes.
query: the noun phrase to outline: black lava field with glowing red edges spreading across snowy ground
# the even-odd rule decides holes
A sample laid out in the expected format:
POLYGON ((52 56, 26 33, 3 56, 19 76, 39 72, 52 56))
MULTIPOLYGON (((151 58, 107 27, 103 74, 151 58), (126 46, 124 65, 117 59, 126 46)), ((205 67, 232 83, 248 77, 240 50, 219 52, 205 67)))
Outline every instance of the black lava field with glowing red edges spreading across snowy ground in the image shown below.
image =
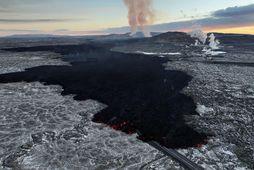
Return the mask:
POLYGON ((181 93, 191 76, 165 70, 166 58, 111 52, 92 45, 41 46, 9 51, 52 51, 70 66, 40 66, 0 75, 0 83, 43 82, 60 85, 62 95, 93 99, 108 107, 93 121, 170 148, 205 144, 206 134, 186 125, 185 115, 197 114, 191 97, 181 93))

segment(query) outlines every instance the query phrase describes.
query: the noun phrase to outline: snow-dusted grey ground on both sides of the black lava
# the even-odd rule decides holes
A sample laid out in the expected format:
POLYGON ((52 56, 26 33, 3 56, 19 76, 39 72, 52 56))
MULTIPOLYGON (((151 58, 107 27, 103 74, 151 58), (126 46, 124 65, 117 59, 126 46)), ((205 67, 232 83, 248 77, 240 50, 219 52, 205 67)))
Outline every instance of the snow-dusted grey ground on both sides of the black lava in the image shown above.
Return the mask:
MULTIPOLYGON (((50 52, 0 51, 0 73, 65 65, 50 52)), ((200 148, 179 150, 205 169, 248 169, 253 161, 254 68, 171 61, 194 76, 184 90, 200 116, 190 126, 213 134, 200 148)), ((16 169, 183 169, 135 135, 91 121, 106 107, 62 96, 60 86, 0 84, 0 163, 16 169)), ((253 164, 252 164, 253 165, 253 164)), ((7 167, 1 167, 8 169, 7 167)))

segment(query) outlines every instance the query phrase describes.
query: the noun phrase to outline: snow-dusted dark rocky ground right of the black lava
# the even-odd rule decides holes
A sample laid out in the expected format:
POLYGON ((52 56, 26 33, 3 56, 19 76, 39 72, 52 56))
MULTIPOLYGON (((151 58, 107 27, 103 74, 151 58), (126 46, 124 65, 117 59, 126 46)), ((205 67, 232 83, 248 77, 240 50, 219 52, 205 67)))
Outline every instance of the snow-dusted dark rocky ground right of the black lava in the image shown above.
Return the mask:
POLYGON ((193 80, 184 93, 194 98, 200 116, 186 118, 212 138, 200 150, 183 153, 206 169, 254 167, 254 67, 171 61, 166 69, 186 71, 193 80), (209 168, 208 168, 209 167, 209 168))

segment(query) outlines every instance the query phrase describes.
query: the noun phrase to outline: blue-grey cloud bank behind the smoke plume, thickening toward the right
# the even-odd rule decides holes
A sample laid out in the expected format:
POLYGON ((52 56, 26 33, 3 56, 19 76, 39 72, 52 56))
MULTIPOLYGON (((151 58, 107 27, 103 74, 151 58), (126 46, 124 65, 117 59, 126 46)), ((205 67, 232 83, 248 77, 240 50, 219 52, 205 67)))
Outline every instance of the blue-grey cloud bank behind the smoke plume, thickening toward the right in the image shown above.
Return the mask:
MULTIPOLYGON (((150 30, 158 32, 188 31, 195 25, 199 25, 204 29, 254 26, 254 4, 218 10, 202 19, 157 24, 151 26, 150 30)), ((128 31, 128 27, 105 30, 108 33, 124 33, 128 31)))

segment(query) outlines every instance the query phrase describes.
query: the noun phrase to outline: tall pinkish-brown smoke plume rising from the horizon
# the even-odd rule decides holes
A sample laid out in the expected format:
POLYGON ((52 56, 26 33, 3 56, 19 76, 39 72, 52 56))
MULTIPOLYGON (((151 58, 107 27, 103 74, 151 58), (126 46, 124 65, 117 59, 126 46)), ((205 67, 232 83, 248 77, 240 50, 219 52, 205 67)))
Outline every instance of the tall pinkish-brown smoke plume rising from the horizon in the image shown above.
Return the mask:
POLYGON ((140 28, 146 37, 151 36, 148 26, 153 23, 152 0, 123 0, 128 7, 132 35, 140 28))

